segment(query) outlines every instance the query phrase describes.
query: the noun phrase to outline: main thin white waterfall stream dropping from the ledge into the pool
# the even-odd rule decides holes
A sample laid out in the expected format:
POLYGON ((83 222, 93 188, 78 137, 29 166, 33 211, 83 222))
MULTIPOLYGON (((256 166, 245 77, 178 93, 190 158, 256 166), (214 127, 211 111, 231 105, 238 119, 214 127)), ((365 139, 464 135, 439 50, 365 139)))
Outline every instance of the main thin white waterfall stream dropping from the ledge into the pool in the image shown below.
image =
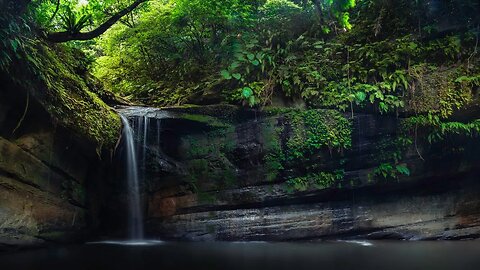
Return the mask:
POLYGON ((143 238, 143 214, 140 200, 138 162, 134 143, 134 133, 127 118, 120 115, 123 122, 123 136, 126 151, 126 178, 128 184, 128 231, 132 240, 143 238))

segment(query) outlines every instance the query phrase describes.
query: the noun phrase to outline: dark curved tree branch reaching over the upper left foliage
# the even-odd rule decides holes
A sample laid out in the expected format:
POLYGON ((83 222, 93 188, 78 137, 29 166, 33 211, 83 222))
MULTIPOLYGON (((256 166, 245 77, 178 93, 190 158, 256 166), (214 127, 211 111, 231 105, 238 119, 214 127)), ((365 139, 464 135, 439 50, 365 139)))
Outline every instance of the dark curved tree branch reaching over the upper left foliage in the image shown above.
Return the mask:
POLYGON ((112 27, 117 21, 119 21, 123 16, 132 12, 135 8, 137 8, 140 4, 147 2, 148 0, 136 0, 130 6, 126 7, 125 9, 121 10, 117 14, 113 15, 108 19, 106 22, 99 25, 97 28, 90 32, 78 32, 78 33, 70 33, 70 32, 55 32, 47 34, 47 39, 49 41, 55 43, 67 42, 71 40, 90 40, 94 39, 101 34, 105 33, 110 27, 112 27))

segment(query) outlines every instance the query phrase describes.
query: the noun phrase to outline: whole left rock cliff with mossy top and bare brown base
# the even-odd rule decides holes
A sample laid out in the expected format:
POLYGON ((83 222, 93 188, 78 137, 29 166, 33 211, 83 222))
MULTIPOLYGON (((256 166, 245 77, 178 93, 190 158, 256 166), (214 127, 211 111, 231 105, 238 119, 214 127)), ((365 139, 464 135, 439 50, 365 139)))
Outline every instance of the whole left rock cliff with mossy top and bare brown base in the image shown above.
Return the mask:
POLYGON ((0 249, 95 232, 120 134, 119 117, 91 92, 81 56, 41 41, 25 50, 28 58, 0 70, 0 249))

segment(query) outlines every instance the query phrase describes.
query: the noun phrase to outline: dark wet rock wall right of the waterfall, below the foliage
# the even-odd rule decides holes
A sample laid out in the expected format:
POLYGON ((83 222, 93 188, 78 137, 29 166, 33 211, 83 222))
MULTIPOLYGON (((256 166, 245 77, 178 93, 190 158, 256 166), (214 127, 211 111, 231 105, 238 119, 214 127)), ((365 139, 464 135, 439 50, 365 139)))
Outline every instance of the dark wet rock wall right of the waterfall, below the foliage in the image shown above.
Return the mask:
POLYGON ((207 112, 192 110, 169 111, 160 143, 148 147, 162 153, 147 162, 155 167, 146 167, 146 227, 152 237, 419 240, 479 235, 480 160, 472 153, 480 146, 475 140, 464 142, 469 149, 460 152, 446 151, 443 144, 399 150, 388 142, 400 136, 401 120, 356 115, 350 147, 299 154, 288 152, 298 130, 282 113, 230 108, 233 112, 224 117, 204 107, 207 112), (277 148, 300 157, 282 159, 282 168, 275 169, 268 158, 277 148), (409 176, 372 177, 398 152, 398 164, 408 165, 409 176), (177 169, 158 165, 161 160, 177 169), (337 170, 342 174, 334 183, 299 189, 288 184, 337 170))

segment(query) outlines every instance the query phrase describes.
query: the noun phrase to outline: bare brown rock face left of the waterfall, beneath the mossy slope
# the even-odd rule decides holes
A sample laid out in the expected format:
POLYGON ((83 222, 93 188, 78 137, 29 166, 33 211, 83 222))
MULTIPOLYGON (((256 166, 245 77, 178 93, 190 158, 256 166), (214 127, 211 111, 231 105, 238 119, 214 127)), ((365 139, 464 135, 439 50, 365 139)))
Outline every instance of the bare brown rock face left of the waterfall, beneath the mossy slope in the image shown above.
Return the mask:
POLYGON ((22 93, 0 93, 0 250, 81 241, 96 226, 90 189, 103 165, 33 98, 23 116, 22 93))

